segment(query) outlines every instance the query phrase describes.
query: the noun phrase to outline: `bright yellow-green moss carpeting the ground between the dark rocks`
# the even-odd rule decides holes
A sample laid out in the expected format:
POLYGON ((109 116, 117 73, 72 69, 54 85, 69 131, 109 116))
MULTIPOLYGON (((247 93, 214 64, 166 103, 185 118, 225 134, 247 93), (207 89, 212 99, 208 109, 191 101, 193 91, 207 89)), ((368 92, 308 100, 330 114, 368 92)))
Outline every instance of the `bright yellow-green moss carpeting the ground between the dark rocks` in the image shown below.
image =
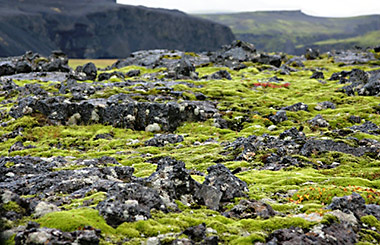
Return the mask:
MULTIPOLYGON (((72 63, 74 64, 74 63, 72 63)), ((240 71, 227 68, 203 67, 197 68, 200 77, 210 75, 223 69, 228 70, 232 80, 199 80, 186 81, 196 86, 176 85, 177 91, 184 91, 189 95, 203 93, 208 100, 218 101, 218 109, 224 119, 240 124, 238 129, 220 129, 214 126, 213 120, 206 122, 186 122, 174 132, 184 135, 184 142, 169 144, 165 147, 146 147, 144 141, 152 138, 153 133, 145 131, 133 131, 131 129, 114 128, 109 125, 78 125, 78 126, 54 126, 39 115, 25 116, 17 120, 10 117, 6 127, 0 128, 0 134, 10 133, 23 127, 22 135, 8 139, 0 145, 0 155, 32 155, 39 157, 72 156, 74 158, 90 159, 102 156, 116 158, 121 164, 133 166, 135 176, 147 177, 155 171, 156 166, 147 160, 171 156, 186 163, 191 170, 206 173, 209 166, 221 162, 231 170, 238 167, 244 171, 237 176, 247 182, 249 186, 249 198, 267 201, 276 211, 284 217, 275 217, 268 220, 247 219, 234 220, 223 217, 220 213, 201 207, 192 209, 183 206, 182 212, 177 213, 153 213, 153 218, 147 221, 123 223, 116 229, 108 226, 91 205, 104 198, 104 193, 94 193, 90 207, 83 207, 83 201, 75 200, 69 205, 60 207, 65 211, 50 213, 36 220, 43 226, 59 228, 64 231, 72 231, 91 225, 102 230, 104 244, 114 242, 127 242, 128 244, 140 244, 150 236, 173 233, 174 238, 180 236, 180 232, 187 227, 206 222, 207 227, 216 230, 217 235, 225 243, 251 244, 263 242, 267 235, 276 229, 298 226, 309 227, 313 223, 292 215, 305 212, 316 212, 323 216, 323 208, 331 202, 334 196, 349 195, 352 192, 360 193, 366 203, 380 204, 380 160, 368 156, 355 157, 343 153, 321 153, 306 158, 307 161, 324 164, 338 162, 340 165, 334 169, 322 170, 311 167, 288 168, 280 171, 259 170, 263 165, 260 156, 255 156, 247 161, 233 161, 229 156, 223 155, 223 142, 232 142, 238 137, 250 135, 279 135, 291 127, 303 126, 303 132, 308 137, 336 139, 336 135, 329 132, 333 129, 342 129, 353 124, 348 120, 351 115, 360 116, 363 120, 370 120, 380 125, 380 115, 376 106, 378 97, 347 96, 339 92, 342 84, 337 81, 324 79, 323 82, 310 79, 313 69, 323 69, 324 76, 329 78, 332 73, 341 70, 360 68, 364 70, 376 69, 366 66, 340 67, 330 59, 306 61, 306 69, 294 72, 291 75, 280 75, 268 67, 259 64, 250 66, 240 71), (259 72, 259 70, 263 71, 259 72), (263 87, 255 86, 255 83, 266 82, 269 78, 277 76, 284 79, 282 83, 289 83, 287 87, 263 87), (317 111, 314 107, 319 102, 331 101, 336 109, 317 111), (288 112, 289 120, 270 131, 272 125, 266 116, 275 113, 279 108, 303 102, 309 106, 309 111, 288 112), (330 128, 315 128, 307 121, 321 114, 326 119, 330 128), (241 118, 249 120, 241 121, 241 118), (112 139, 95 140, 95 135, 110 133, 112 139), (325 133, 321 136, 321 133, 325 133), (205 143, 212 139, 211 143, 205 143), (136 141, 138 140, 138 141, 136 141), (8 152, 8 149, 17 141, 23 141, 24 145, 32 145, 36 148, 23 151, 8 152), (196 144, 195 144, 196 143, 196 144)), ((140 69, 142 75, 146 73, 160 73, 163 69, 148 70, 142 67, 125 67, 122 72, 132 69, 140 69)), ((141 75, 141 76, 142 76, 141 75)), ((33 81, 35 82, 35 81, 33 81)), ((18 82, 19 85, 26 81, 18 82)), ((44 84, 46 87, 46 83, 44 84)), ((109 89, 101 95, 94 97, 108 97, 120 92, 128 93, 129 89, 109 89)), ((54 92, 52 90, 52 92, 54 92)), ((136 92, 136 91, 134 91, 136 92)), ((155 91, 155 93, 161 93, 155 91)), ((195 99, 195 96, 187 96, 187 99, 195 99)), ((180 98, 181 99, 181 98, 180 98)), ((7 105, 10 108, 11 104, 7 105)), ((4 105, 2 105, 4 108, 4 105)), ((380 137, 364 133, 353 135, 359 139, 372 138, 380 140, 380 137)), ((343 140, 343 139, 342 139, 343 140)), ((77 166, 68 166, 75 169, 77 166)), ((193 175, 197 181, 203 181, 204 176, 193 175)), ((238 201, 238 200, 236 200, 238 201)), ((30 219, 33 219, 32 217, 30 219)), ((363 218, 364 223, 378 226, 373 218, 363 218), (374 224, 372 224, 374 223, 374 224)), ((363 242, 379 238, 370 231, 363 233, 363 242)))

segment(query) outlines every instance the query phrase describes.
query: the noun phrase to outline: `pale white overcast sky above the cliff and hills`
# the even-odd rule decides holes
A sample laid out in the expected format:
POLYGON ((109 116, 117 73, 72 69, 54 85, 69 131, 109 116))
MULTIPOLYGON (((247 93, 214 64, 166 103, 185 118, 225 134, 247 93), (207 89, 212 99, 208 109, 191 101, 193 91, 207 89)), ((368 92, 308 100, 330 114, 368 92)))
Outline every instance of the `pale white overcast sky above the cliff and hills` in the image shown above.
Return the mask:
POLYGON ((117 0, 118 3, 179 9, 187 13, 302 10, 327 17, 380 14, 380 0, 117 0))

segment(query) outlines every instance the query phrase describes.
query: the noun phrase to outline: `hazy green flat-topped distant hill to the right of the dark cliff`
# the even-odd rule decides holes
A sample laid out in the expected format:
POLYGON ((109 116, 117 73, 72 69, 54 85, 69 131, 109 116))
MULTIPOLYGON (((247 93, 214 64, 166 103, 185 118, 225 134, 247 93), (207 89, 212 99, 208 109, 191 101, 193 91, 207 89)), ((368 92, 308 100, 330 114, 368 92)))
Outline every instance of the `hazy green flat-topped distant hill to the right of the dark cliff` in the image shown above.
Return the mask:
POLYGON ((238 39, 263 51, 300 54, 307 47, 328 51, 380 44, 380 15, 323 18, 301 11, 264 11, 198 16, 229 26, 238 39))

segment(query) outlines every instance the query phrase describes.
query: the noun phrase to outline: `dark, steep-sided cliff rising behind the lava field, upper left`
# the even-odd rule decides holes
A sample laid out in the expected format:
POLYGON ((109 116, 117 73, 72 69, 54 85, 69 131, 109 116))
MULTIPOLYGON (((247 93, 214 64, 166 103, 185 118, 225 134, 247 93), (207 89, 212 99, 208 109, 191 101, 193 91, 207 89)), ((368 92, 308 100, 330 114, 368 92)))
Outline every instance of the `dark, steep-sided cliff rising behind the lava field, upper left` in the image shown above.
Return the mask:
POLYGON ((0 3, 0 56, 61 49, 71 58, 123 58, 142 49, 215 50, 234 39, 221 24, 111 0, 0 3))

